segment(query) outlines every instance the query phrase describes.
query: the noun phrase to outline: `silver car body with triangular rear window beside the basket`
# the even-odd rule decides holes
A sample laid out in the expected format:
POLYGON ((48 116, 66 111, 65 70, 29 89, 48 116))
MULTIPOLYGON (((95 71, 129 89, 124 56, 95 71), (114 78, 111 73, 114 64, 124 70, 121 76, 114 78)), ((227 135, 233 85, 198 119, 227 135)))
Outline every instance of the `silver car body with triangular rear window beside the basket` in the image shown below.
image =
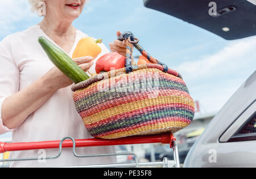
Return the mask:
POLYGON ((184 167, 256 167, 256 71, 193 145, 184 167))

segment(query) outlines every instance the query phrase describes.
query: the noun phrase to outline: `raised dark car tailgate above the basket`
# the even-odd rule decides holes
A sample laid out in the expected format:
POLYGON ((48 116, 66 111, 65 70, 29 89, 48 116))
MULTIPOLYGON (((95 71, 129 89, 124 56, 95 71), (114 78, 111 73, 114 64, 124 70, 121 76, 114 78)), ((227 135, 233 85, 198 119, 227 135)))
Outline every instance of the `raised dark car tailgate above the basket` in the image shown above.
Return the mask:
MULTIPOLYGON (((158 10, 213 32, 226 40, 256 35, 254 0, 143 0, 144 6, 158 10), (210 2, 217 15, 209 15, 210 2), (223 30, 225 28, 225 31, 223 30), (228 31, 228 29, 229 31, 228 31), (228 32, 226 32, 228 31, 228 32)), ((210 10, 211 11, 211 10, 210 10)))

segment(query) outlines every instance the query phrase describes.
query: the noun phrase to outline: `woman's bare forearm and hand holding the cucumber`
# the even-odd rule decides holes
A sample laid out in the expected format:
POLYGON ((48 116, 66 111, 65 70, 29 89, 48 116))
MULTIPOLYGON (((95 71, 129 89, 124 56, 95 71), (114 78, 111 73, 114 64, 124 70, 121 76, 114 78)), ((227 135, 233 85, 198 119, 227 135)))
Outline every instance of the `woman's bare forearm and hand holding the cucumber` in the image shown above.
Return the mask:
MULTIPOLYGON (((73 59, 84 71, 93 65, 92 57, 73 59)), ((68 87, 73 82, 59 69, 53 67, 30 86, 6 98, 2 105, 3 125, 9 129, 20 126, 27 117, 60 88, 68 87)), ((60 104, 61 105, 61 104, 60 104)))

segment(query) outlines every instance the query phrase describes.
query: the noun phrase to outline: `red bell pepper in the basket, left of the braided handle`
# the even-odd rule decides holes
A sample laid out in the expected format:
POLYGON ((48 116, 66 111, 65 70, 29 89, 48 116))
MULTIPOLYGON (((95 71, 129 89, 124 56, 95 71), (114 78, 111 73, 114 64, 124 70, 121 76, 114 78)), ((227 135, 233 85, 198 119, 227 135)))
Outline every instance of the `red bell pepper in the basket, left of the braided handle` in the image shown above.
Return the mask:
POLYGON ((107 53, 100 57, 96 62, 96 73, 99 74, 102 71, 110 71, 113 68, 115 70, 125 67, 125 57, 117 52, 107 53))

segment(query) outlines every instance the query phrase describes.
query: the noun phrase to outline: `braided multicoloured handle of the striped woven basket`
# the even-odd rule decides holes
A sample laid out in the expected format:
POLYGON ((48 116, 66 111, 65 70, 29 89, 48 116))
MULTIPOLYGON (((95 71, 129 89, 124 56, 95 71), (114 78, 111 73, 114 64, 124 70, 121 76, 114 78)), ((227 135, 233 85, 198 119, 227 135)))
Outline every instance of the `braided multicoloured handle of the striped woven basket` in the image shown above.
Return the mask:
POLYGON ((121 35, 118 36, 118 40, 123 41, 126 40, 126 59, 125 59, 125 71, 126 73, 131 73, 133 71, 133 66, 131 65, 131 55, 133 54, 133 46, 139 50, 139 52, 148 59, 151 63, 159 64, 163 66, 163 71, 168 71, 168 66, 157 59, 153 58, 149 53, 146 52, 142 48, 141 45, 139 45, 139 40, 134 37, 133 33, 131 32, 124 32, 121 35))

